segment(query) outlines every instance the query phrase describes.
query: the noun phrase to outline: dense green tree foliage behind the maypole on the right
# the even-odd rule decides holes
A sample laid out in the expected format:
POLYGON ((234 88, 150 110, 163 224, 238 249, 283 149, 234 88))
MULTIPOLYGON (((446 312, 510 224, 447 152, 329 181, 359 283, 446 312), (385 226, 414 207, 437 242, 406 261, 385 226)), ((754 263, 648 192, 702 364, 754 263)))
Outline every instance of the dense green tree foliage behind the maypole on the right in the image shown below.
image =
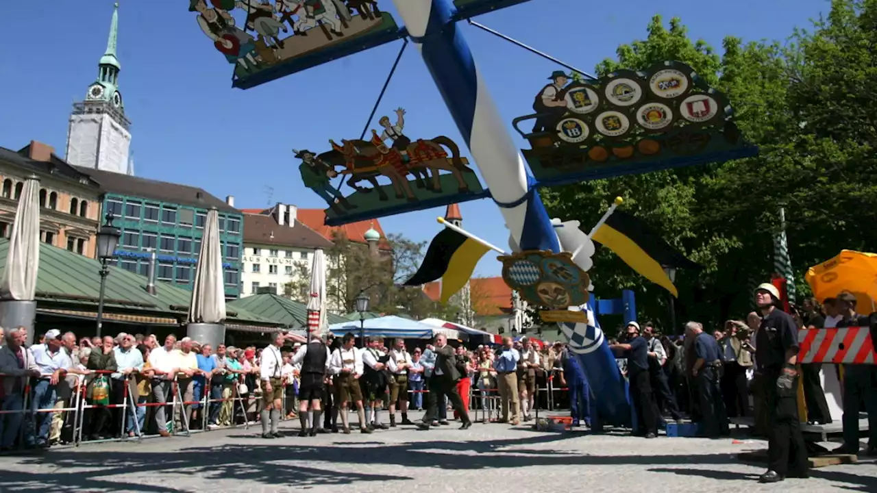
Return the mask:
MULTIPOLYGON (((873 251, 875 28, 877 0, 835 0, 812 32, 796 31, 785 43, 729 37, 720 57, 702 40, 689 39, 680 19, 666 29, 659 16, 652 18, 646 38, 619 46, 617 59, 602 61, 598 74, 687 63, 729 96, 734 119, 760 147, 759 156, 542 190, 548 211, 580 219, 587 229, 613 197, 624 196, 626 211, 704 267, 677 274, 680 325, 688 318, 717 325, 745 315, 752 282, 766 281, 773 271, 781 206, 800 288, 806 268, 842 248, 873 251)), ((591 274, 599 296, 634 289, 640 315, 666 325, 667 293, 608 249, 598 248, 591 274)))

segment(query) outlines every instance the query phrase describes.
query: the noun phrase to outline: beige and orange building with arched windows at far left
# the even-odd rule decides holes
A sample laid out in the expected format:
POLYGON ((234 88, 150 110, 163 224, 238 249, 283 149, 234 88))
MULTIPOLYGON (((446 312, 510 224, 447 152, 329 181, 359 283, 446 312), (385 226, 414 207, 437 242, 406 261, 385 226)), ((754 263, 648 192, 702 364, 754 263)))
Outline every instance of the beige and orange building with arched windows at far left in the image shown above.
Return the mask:
POLYGON ((39 178, 39 239, 54 247, 95 257, 103 190, 54 154, 31 141, 19 151, 0 147, 0 235, 9 238, 25 181, 39 178))

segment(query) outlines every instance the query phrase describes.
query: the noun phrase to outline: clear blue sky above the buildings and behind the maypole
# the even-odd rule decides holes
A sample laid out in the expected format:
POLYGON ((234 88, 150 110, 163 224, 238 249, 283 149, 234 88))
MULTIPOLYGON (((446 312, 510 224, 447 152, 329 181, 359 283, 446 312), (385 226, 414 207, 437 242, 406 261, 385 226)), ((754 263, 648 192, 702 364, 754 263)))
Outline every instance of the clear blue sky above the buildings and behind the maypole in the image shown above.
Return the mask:
MULTIPOLYGON (((63 154, 70 105, 85 96, 106 46, 114 0, 4 2, 0 49, 0 146, 31 139, 63 154)), ((389 0, 381 8, 395 12, 389 0)), ((241 208, 272 202, 324 203, 299 181, 289 149, 324 150, 358 137, 399 49, 394 44, 290 75, 255 89, 231 88, 231 66, 198 29, 185 0, 120 0, 120 89, 132 120, 139 176, 198 185, 241 208)), ((692 38, 721 49, 724 36, 786 39, 794 26, 827 11, 828 0, 531 0, 477 20, 592 72, 619 44, 645 38, 652 15, 677 16, 692 38)), ((394 16, 398 18, 398 16, 394 16)), ((533 96, 555 66, 503 39, 461 26, 503 117, 531 113, 533 96)), ((462 143, 417 50, 409 47, 379 110, 408 111, 412 138, 444 134, 462 143)), ((510 132, 513 132, 509 127, 510 132)), ((517 133, 514 133, 517 136, 517 133)), ((517 139, 525 146, 521 139, 517 139)), ((607 197, 610 200, 611 197, 607 197)), ((508 232, 489 201, 460 206, 464 227, 500 247, 508 232)), ((429 240, 443 210, 382 218, 387 232, 429 240)), ((476 275, 497 275, 481 261, 476 275)))

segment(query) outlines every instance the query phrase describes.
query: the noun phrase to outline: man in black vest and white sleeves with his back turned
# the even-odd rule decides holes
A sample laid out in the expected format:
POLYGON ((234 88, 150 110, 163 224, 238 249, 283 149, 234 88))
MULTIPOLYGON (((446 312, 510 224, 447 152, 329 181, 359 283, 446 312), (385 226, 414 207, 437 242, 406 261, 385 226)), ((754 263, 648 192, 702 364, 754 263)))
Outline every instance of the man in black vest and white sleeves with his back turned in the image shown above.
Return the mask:
POLYGON ((302 364, 302 383, 298 387, 298 419, 302 425, 298 436, 315 436, 317 431, 323 432, 320 426, 322 414, 320 400, 325 391, 325 377, 329 373, 329 347, 326 347, 323 339, 315 337, 298 349, 292 357, 292 364, 302 364), (308 431, 308 411, 313 413, 308 431))

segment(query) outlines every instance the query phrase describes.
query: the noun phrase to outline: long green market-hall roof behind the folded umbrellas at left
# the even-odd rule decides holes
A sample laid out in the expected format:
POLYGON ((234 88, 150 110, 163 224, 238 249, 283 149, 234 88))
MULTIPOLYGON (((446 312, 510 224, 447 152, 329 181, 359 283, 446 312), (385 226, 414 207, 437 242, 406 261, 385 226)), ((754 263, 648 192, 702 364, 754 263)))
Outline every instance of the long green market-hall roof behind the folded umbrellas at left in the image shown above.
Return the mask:
MULTIPOLYGON (((9 239, 0 239, 0 276, 4 274, 9 239)), ((96 310, 100 296, 99 261, 46 243, 39 245, 37 310, 96 310)), ((146 292, 146 276, 111 267, 103 297, 106 313, 177 318, 185 322, 192 292, 167 282, 156 282, 156 294, 146 292)), ((277 327, 282 323, 244 309, 227 311, 230 328, 277 327)))

